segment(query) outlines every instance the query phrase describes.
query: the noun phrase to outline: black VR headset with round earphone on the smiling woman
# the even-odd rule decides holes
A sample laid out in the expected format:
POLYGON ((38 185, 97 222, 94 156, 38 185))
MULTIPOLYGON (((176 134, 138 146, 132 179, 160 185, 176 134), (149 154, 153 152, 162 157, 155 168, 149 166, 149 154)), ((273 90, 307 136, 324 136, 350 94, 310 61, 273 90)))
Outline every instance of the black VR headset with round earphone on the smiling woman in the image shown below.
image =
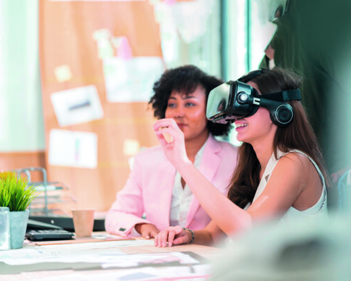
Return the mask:
POLYGON ((239 80, 227 81, 209 93, 206 109, 208 120, 232 123, 235 119, 254 115, 258 107, 265 107, 270 111, 273 124, 284 127, 291 123, 293 107, 285 102, 301 100, 300 89, 260 95, 256 89, 239 80))

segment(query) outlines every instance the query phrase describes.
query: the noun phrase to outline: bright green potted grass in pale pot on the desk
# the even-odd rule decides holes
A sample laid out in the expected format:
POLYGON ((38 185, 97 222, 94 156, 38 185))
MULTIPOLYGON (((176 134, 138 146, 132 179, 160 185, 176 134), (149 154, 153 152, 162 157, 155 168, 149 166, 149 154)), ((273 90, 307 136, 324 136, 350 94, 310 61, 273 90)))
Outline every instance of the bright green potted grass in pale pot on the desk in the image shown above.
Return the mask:
POLYGON ((29 204, 39 195, 27 177, 15 172, 0 173, 0 207, 10 209, 11 249, 22 248, 27 229, 29 204))

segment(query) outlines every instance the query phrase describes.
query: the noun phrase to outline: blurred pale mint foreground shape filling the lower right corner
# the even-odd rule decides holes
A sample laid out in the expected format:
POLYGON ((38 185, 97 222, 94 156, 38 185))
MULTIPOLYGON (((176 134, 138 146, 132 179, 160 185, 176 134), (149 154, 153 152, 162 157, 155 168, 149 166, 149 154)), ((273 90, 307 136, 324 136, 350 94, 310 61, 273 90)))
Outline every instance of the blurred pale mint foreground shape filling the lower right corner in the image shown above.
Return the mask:
POLYGON ((225 245, 212 280, 350 280, 350 214, 288 225, 270 222, 225 245))

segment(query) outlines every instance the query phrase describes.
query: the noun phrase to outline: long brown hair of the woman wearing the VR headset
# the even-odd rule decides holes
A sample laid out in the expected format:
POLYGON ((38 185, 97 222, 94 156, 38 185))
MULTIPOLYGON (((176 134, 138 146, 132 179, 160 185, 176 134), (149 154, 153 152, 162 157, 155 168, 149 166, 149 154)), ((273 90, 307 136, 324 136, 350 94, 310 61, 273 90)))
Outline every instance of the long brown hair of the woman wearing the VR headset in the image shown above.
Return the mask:
MULTIPOLYGON (((274 67, 272 70, 264 69, 251 79, 242 81, 244 83, 255 82, 262 95, 298 89, 301 84, 301 78, 297 74, 279 67, 274 67)), ((277 150, 288 152, 296 149, 305 152, 316 162, 322 171, 326 185, 329 186, 329 174, 326 171, 322 152, 303 105, 298 100, 288 103, 293 107, 293 120, 289 126, 277 128, 273 141, 274 156, 277 158, 277 150)), ((244 208, 246 204, 252 202, 259 183, 260 162, 251 144, 242 143, 239 147, 237 168, 230 181, 228 198, 239 207, 244 208)))

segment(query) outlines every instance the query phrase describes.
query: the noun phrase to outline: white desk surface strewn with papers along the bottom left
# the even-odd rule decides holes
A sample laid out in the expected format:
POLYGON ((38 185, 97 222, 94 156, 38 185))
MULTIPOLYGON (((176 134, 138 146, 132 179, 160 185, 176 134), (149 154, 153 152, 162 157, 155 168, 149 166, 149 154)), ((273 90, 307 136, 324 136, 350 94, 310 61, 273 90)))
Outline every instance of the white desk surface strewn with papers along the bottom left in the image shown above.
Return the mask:
POLYGON ((197 280, 208 280, 208 275, 211 271, 211 265, 208 265, 208 261, 215 259, 221 251, 222 249, 216 247, 207 247, 197 244, 186 244, 173 247, 154 247, 153 240, 145 240, 142 237, 135 237, 135 240, 84 242, 77 244, 55 244, 44 246, 38 246, 33 242, 26 241, 22 249, 0 251, 0 280, 79 281, 94 280, 95 277, 95 280, 98 280, 97 278, 99 278, 99 280, 103 281, 194 280, 195 277, 197 277, 197 280), (176 252, 183 252, 180 255, 184 254, 184 256, 189 256, 190 259, 194 258, 199 261, 199 263, 190 264, 190 262, 183 265, 179 264, 179 262, 164 263, 164 261, 162 261, 162 259, 170 259, 170 256, 164 258, 166 253, 176 252), (153 264, 139 264, 138 266, 128 266, 127 268, 102 266, 102 264, 98 262, 100 261, 98 255, 100 255, 101 259, 105 259, 105 256, 110 254, 115 254, 118 259, 128 259, 128 255, 133 254, 140 254, 140 256, 141 254, 145 254, 146 258, 141 256, 141 259, 148 259, 147 254, 152 254, 151 256, 160 254, 160 258, 159 261, 152 261, 153 264), (98 259, 87 262, 85 259, 88 259, 89 255, 92 255, 92 259, 97 259, 96 257, 98 256, 98 259), (56 259, 60 258, 60 256, 62 256, 62 259, 67 258, 67 261, 57 261, 56 259), (123 258, 124 256, 126 258, 123 258), (70 258, 72 258, 74 262, 69 261, 70 258), (77 262, 75 262, 76 260, 77 262), (22 262, 23 264, 21 264, 22 262), (189 275, 187 275, 187 272, 189 272, 189 275), (166 277, 153 277, 154 273, 166 277))

